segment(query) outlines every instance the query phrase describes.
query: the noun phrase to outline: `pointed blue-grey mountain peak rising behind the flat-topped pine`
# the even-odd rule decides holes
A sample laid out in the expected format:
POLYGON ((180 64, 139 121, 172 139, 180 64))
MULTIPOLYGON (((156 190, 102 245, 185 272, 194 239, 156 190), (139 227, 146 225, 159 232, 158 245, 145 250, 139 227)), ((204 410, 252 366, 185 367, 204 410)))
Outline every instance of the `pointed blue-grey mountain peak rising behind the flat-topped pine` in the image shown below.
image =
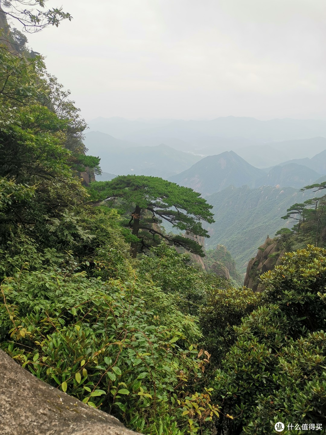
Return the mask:
POLYGON ((225 151, 204 157, 186 171, 170 177, 170 181, 206 196, 230 185, 254 187, 256 180, 264 176, 264 171, 247 163, 235 152, 225 151))

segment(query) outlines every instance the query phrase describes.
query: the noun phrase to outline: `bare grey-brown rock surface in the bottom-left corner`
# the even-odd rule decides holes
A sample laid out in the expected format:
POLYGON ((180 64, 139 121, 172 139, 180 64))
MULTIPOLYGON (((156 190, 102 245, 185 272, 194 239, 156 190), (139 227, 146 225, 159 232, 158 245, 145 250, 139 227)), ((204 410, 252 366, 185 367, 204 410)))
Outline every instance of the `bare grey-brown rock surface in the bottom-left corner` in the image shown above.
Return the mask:
POLYGON ((115 417, 40 381, 0 350, 1 435, 133 435, 115 417))

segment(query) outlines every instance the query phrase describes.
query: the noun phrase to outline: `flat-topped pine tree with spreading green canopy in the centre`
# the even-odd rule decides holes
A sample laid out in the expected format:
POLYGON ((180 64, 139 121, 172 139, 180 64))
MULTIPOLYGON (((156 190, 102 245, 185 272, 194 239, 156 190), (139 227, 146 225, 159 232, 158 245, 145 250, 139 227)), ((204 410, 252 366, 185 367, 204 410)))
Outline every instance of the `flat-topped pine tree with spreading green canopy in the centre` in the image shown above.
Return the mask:
POLYGON ((111 181, 91 184, 93 197, 97 200, 123 205, 130 220, 126 226, 132 231, 131 254, 143 251, 150 239, 164 238, 170 244, 181 246, 190 252, 203 255, 200 244, 191 238, 164 234, 159 224, 163 220, 190 236, 209 237, 201 221, 214 222, 212 206, 189 187, 178 186, 159 177, 144 175, 120 175, 111 181))

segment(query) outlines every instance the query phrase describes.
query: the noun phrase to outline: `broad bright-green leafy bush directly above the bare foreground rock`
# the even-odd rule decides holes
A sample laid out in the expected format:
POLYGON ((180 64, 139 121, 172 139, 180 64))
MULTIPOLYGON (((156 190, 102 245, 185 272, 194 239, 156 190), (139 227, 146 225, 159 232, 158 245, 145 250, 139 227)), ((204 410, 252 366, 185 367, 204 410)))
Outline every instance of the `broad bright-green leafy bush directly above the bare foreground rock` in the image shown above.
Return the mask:
POLYGON ((0 305, 1 347, 23 367, 143 433, 195 433, 217 413, 196 321, 160 290, 88 278, 72 259, 25 267, 3 281, 0 305), (146 308, 149 291, 161 310, 146 308))

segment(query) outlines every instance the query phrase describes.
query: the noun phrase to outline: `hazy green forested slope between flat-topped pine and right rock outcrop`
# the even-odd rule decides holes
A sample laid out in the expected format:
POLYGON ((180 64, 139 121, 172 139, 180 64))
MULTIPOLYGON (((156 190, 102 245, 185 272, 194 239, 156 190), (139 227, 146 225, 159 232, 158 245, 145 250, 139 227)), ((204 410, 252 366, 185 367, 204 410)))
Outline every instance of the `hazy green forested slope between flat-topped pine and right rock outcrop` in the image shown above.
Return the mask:
POLYGON ((279 228, 291 228, 281 216, 295 203, 306 201, 313 192, 300 192, 293 187, 248 186, 227 187, 210 195, 215 223, 209 225, 208 248, 224 244, 236 260, 237 269, 244 272, 250 258, 256 255, 267 234, 273 237, 279 228))

